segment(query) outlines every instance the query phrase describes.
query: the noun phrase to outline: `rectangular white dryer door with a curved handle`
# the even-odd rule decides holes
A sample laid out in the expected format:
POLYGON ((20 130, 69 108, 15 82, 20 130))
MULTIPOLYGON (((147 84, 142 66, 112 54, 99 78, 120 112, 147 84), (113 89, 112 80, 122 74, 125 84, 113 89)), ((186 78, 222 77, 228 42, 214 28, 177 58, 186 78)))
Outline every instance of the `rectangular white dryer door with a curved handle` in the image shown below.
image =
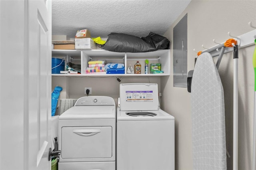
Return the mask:
POLYGON ((111 158, 112 127, 62 127, 61 156, 111 158))

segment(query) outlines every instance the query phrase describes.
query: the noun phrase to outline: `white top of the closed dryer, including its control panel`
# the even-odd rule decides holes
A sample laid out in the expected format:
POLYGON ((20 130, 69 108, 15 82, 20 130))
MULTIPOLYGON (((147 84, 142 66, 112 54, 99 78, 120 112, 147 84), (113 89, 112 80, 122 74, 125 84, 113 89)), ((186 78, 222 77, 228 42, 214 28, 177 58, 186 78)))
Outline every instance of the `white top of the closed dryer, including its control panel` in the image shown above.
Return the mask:
POLYGON ((62 113, 59 119, 115 119, 114 99, 106 96, 79 98, 75 105, 62 113))

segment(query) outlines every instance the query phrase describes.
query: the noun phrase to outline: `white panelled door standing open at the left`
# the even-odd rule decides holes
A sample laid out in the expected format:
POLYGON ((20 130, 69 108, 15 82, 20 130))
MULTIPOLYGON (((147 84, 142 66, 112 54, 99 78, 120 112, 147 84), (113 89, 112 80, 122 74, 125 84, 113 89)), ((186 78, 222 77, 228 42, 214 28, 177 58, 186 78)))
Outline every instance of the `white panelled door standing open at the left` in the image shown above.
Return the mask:
POLYGON ((1 170, 50 170, 51 10, 0 0, 1 170))

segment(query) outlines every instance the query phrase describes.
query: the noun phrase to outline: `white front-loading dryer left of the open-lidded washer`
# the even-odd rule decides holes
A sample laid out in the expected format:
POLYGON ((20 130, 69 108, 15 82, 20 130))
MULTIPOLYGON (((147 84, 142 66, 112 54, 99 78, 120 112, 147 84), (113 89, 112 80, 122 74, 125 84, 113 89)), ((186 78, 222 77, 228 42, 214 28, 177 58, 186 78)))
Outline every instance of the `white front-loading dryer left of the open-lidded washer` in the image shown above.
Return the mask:
POLYGON ((116 105, 106 96, 87 96, 59 117, 58 170, 116 169, 116 105))

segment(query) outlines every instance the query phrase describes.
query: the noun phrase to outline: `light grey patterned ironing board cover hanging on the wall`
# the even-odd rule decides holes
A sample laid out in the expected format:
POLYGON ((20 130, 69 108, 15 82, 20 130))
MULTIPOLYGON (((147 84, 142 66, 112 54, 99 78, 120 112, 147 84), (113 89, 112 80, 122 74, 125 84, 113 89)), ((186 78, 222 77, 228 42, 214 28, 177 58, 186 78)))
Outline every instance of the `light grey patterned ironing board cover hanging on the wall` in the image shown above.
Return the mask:
POLYGON ((191 103, 194 170, 226 170, 224 92, 210 53, 196 60, 191 103))

